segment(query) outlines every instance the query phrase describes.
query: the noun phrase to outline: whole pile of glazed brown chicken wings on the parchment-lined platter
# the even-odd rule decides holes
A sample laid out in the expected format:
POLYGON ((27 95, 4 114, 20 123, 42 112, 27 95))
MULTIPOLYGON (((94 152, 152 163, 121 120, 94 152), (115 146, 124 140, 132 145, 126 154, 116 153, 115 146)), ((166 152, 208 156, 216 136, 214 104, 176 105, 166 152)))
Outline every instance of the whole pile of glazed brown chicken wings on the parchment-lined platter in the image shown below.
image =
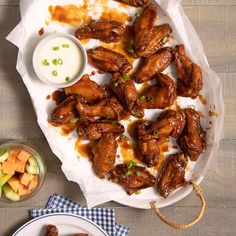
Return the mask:
MULTIPOLYGON (((137 70, 131 78, 128 73, 133 65, 124 55, 102 46, 89 49, 89 63, 99 71, 112 74, 109 84, 100 86, 89 75, 84 75, 76 84, 64 89, 66 98, 53 110, 49 122, 59 127, 76 119, 78 136, 94 143, 92 162, 99 178, 108 176, 129 195, 155 186, 166 198, 187 184, 188 159, 197 161, 206 148, 199 112, 193 108, 169 108, 178 96, 197 98, 203 87, 202 71, 186 55, 184 45, 165 47, 172 37, 172 29, 169 24, 156 25, 157 9, 149 0, 119 1, 143 7, 142 13, 136 16, 130 39, 133 49, 129 51, 133 57, 140 58, 137 70), (163 73, 172 63, 177 67, 177 81, 163 73), (151 80, 153 83, 138 93, 134 82, 142 84, 151 80), (153 122, 142 119, 145 109, 165 110, 153 122), (140 119, 135 123, 134 141, 144 165, 131 162, 115 166, 117 138, 125 131, 120 121, 130 115, 140 119), (170 155, 155 177, 147 167, 158 165, 159 143, 169 137, 176 139, 181 152, 170 155)), ((77 29, 75 36, 118 42, 125 27, 116 21, 97 21, 77 29)))

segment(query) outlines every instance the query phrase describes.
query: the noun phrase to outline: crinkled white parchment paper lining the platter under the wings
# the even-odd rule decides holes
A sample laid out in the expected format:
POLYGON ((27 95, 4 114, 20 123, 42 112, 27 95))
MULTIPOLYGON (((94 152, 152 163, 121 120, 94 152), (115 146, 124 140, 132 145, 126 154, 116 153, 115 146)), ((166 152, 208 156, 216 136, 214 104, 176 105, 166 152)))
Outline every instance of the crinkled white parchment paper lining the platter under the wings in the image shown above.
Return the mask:
MULTIPOLYGON (((94 2, 91 0, 91 2, 94 2)), ((38 35, 41 27, 45 27, 45 35, 53 32, 65 32, 73 34, 76 27, 60 25, 50 22, 45 26, 45 21, 49 20, 49 5, 67 5, 76 4, 82 5, 83 0, 21 0, 20 11, 21 21, 8 35, 7 39, 19 48, 17 58, 17 70, 19 71, 32 99, 32 103, 37 114, 37 120, 42 129, 53 153, 62 162, 62 171, 70 181, 79 184, 89 207, 110 201, 116 200, 131 206, 145 208, 148 201, 155 199, 158 201, 159 207, 170 205, 173 202, 183 198, 190 191, 189 187, 174 192, 168 199, 162 199, 154 189, 146 189, 141 195, 128 197, 125 191, 118 185, 109 182, 108 180, 100 180, 93 172, 92 164, 84 159, 78 159, 78 153, 75 150, 76 134, 72 133, 69 137, 63 137, 55 127, 48 124, 48 116, 55 107, 53 101, 46 100, 46 96, 51 94, 55 89, 51 88, 36 77, 32 67, 32 54, 35 46, 42 37, 38 35), (120 200, 123 199, 123 200, 120 200), (146 205, 145 205, 146 204, 146 205)), ((219 141, 222 137, 224 104, 222 99, 222 86, 217 74, 209 68, 202 43, 185 15, 180 1, 178 0, 157 0, 158 8, 158 24, 169 23, 173 29, 175 40, 172 45, 184 43, 187 54, 190 58, 202 67, 204 88, 201 94, 207 99, 207 105, 203 105, 199 100, 190 98, 179 98, 181 107, 195 105, 197 110, 200 110, 202 124, 204 128, 209 128, 207 132, 208 148, 201 155, 196 163, 190 163, 190 169, 186 174, 187 179, 194 179, 200 182, 207 170, 216 170, 217 160, 216 153, 219 146, 219 141), (208 116, 209 111, 217 112, 217 117, 208 116), (211 122, 211 125, 210 125, 211 122)), ((98 4, 99 5, 99 4, 98 4)), ((127 12, 131 15, 137 11, 136 8, 123 8, 119 3, 110 0, 108 6, 111 8, 119 8, 120 11, 127 12)), ((99 6, 97 6, 99 9, 99 6)), ((91 16, 93 12, 91 11, 91 16)), ((94 16, 97 19, 98 16, 94 16)), ((90 40, 86 44, 86 48, 92 48, 99 45, 98 40, 90 40)), ((88 66, 86 72, 90 73, 94 70, 88 66)), ((173 78, 176 77, 176 71, 173 67, 168 68, 173 78)), ((97 75, 92 77, 95 81, 105 83, 109 79, 109 75, 104 78, 97 75)), ((145 118, 155 119, 160 113, 160 110, 146 110, 145 118)), ((126 125, 126 124, 124 124, 126 125)))

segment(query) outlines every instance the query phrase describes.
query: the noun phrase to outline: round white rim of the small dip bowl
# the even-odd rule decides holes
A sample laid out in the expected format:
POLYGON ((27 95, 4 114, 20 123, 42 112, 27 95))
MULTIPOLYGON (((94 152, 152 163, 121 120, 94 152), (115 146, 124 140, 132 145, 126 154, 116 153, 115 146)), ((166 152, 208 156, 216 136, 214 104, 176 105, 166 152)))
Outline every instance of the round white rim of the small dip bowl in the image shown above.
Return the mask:
POLYGON ((36 48, 34 49, 34 53, 33 53, 33 67, 34 67, 34 71, 36 73, 36 75, 38 76, 38 78, 44 82, 47 85, 50 85, 52 87, 55 88, 64 88, 64 87, 68 87, 71 86, 73 84, 75 84, 84 74, 84 71, 86 69, 87 66, 87 53, 85 48, 83 47, 83 45, 81 44, 81 42, 75 38, 74 36, 70 35, 70 34, 65 34, 65 33, 53 33, 50 34, 49 36, 44 37, 36 46, 36 48), (82 66, 81 69, 79 70, 78 74, 72 78, 69 81, 65 81, 65 82, 53 82, 51 80, 49 80, 48 78, 46 78, 46 76, 43 75, 42 71, 40 70, 40 64, 39 64, 39 53, 42 50, 42 47, 45 46, 46 43, 48 43, 50 40, 52 39, 56 39, 56 38, 67 38, 69 40, 71 40, 72 42, 74 42, 79 50, 81 51, 81 55, 82 55, 82 66))

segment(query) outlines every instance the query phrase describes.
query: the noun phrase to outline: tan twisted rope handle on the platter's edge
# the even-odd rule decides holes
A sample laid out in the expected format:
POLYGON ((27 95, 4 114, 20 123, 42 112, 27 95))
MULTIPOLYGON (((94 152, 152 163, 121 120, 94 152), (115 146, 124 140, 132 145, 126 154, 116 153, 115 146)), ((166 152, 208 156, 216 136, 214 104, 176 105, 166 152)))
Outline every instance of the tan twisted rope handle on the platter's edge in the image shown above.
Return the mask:
POLYGON ((193 185, 193 188, 194 188, 194 190, 195 190, 195 192, 196 192, 196 195, 200 198, 201 204, 202 204, 201 210, 199 211, 197 217, 196 217, 193 221, 191 221, 190 223, 187 223, 187 224, 176 224, 176 223, 174 223, 174 222, 168 220, 168 219, 160 212, 160 210, 159 210, 159 208, 158 208, 158 206, 157 206, 157 203, 156 203, 155 201, 150 202, 150 205, 151 205, 152 209, 155 210, 157 216, 159 216, 159 218, 160 218, 163 222, 165 222, 167 225, 169 225, 169 226, 171 226, 171 227, 173 227, 173 228, 175 228, 175 229, 187 229, 187 228, 190 228, 190 227, 192 227, 193 225, 197 224, 197 223, 201 220, 201 218, 203 217, 203 215, 204 215, 204 212, 205 212, 205 209, 206 209, 206 202, 205 202, 205 199, 204 199, 204 197, 203 197, 202 190, 201 190, 201 188, 197 185, 196 182, 190 181, 190 184, 193 185))

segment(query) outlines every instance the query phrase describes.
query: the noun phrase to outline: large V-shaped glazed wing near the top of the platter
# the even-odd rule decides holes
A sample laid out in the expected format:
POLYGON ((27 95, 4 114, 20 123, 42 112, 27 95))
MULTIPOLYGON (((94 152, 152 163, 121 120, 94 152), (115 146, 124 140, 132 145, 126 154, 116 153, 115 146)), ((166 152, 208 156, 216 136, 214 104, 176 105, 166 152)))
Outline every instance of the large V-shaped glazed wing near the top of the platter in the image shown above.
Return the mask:
POLYGON ((172 29, 168 24, 154 26, 157 10, 149 4, 134 22, 134 48, 137 57, 149 57, 158 51, 169 38, 172 29))

